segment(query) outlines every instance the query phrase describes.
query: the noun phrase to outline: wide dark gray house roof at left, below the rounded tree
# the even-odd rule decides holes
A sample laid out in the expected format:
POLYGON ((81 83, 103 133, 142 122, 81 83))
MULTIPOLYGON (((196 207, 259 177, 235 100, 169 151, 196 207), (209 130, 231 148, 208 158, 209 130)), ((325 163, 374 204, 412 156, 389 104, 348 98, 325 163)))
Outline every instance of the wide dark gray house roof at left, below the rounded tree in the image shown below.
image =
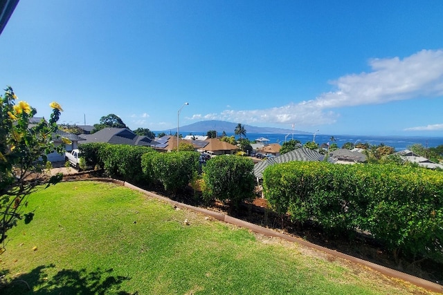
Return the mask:
POLYGON ((86 139, 85 142, 107 142, 109 144, 130 144, 142 146, 155 146, 158 144, 145 135, 136 135, 127 128, 104 128, 93 134, 82 134, 80 137, 86 139))

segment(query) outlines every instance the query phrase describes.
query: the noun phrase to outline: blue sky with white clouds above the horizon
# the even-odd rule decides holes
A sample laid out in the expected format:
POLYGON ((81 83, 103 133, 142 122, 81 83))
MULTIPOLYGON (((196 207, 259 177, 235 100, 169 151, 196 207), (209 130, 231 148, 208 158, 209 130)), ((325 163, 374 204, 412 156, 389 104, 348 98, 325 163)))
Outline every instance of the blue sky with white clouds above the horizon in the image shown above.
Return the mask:
POLYGON ((443 136, 443 1, 20 0, 0 84, 60 122, 443 136), (400 4, 401 3, 401 4, 400 4))

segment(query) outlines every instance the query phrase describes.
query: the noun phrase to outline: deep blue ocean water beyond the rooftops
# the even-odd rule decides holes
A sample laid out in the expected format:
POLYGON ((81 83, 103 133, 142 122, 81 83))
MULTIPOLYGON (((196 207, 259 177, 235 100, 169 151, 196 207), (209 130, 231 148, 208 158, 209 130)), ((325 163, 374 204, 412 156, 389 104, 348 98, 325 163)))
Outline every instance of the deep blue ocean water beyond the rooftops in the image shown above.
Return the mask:
MULTIPOLYGON (((233 135, 233 133, 228 133, 228 135, 233 135)), ((315 136, 315 142, 318 144, 332 143, 332 135, 318 134, 315 136)), ((279 143, 283 144, 284 140, 300 140, 302 144, 305 142, 311 142, 313 140, 313 135, 309 134, 279 134, 279 133, 246 133, 248 140, 255 140, 259 137, 265 137, 269 139, 269 143, 279 143)), ((425 147, 435 147, 443 144, 443 137, 424 137, 424 136, 370 136, 370 135, 334 135, 336 144, 338 147, 343 146, 346 142, 356 143, 366 143, 372 145, 385 144, 386 146, 392 146, 395 151, 403 151, 408 149, 408 146, 413 144, 422 144, 425 147)))

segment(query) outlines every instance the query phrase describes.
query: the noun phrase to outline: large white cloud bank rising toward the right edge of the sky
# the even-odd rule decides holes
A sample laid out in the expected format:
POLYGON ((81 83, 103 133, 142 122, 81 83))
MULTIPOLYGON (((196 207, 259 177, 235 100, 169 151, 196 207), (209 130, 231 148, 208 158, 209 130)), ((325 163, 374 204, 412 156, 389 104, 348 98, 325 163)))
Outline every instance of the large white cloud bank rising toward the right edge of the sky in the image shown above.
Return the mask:
POLYGON ((331 110, 334 108, 443 95, 443 50, 422 50, 404 59, 371 59, 369 65, 369 73, 345 75, 329 82, 335 90, 315 99, 263 110, 194 115, 192 119, 208 116, 233 122, 313 126, 336 122, 339 114, 331 110))

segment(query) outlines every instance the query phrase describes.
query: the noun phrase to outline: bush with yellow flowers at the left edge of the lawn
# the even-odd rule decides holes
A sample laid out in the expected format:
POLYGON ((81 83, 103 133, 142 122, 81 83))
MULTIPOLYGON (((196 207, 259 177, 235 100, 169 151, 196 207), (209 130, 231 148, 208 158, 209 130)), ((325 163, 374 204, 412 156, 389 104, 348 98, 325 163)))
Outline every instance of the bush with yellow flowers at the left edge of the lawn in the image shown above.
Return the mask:
MULTIPOLYGON (((62 107, 52 102, 50 120, 32 124, 37 110, 27 102, 16 103, 16 100, 10 86, 0 96, 0 242, 3 242, 0 253, 4 251, 6 231, 17 225, 17 220, 25 218, 29 222, 33 218, 33 212, 22 213, 27 196, 37 185, 49 185, 61 178, 61 175, 49 178, 44 171, 48 153, 62 153, 64 149, 63 145, 56 148, 53 143, 62 107)), ((66 138, 62 141, 70 143, 66 138)))

